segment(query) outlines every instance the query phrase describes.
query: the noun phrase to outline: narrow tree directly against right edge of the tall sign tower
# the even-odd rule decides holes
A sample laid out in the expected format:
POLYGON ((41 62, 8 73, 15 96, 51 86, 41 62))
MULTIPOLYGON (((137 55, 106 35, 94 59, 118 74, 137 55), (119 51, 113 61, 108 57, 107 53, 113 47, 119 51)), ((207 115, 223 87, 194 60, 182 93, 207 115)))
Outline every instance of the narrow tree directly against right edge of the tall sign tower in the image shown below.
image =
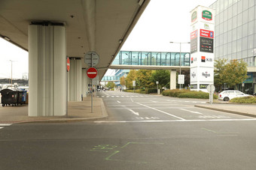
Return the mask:
POLYGON ((220 91, 222 85, 227 83, 225 79, 223 79, 224 70, 227 64, 227 59, 219 59, 215 60, 215 70, 214 70, 214 84, 215 87, 220 91))

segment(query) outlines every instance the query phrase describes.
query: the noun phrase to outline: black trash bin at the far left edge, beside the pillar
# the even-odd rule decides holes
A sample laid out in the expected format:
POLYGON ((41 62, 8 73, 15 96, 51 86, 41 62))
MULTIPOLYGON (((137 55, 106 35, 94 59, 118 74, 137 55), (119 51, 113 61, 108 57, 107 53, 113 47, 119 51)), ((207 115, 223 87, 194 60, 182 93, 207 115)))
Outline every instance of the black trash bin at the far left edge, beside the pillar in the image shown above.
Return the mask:
POLYGON ((2 106, 14 106, 18 104, 19 91, 5 88, 0 93, 2 94, 2 106))

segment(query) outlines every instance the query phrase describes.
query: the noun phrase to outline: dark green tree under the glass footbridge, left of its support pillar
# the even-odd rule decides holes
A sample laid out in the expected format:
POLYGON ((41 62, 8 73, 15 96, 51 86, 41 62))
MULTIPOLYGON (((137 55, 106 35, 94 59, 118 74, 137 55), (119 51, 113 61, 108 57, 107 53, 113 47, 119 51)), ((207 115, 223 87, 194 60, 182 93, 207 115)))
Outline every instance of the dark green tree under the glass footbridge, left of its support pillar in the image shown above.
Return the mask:
POLYGON ((169 70, 154 70, 151 76, 151 81, 159 82, 160 88, 166 87, 170 81, 169 70))

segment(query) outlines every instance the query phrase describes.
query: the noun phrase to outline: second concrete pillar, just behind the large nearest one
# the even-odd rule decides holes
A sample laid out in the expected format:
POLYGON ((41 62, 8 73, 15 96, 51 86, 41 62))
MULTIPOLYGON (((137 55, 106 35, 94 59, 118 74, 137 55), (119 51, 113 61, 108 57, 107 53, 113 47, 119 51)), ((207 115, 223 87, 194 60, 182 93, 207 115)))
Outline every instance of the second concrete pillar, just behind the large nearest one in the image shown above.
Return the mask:
POLYGON ((81 58, 70 59, 69 81, 69 101, 81 101, 82 86, 82 65, 81 58))

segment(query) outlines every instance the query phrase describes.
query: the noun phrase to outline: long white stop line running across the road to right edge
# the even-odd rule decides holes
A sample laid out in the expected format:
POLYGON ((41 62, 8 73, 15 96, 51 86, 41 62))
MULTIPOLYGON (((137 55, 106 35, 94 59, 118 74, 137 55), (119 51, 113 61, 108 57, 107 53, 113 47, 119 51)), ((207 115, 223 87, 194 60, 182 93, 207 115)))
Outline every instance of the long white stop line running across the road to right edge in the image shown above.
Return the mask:
POLYGON ((162 123, 162 122, 200 122, 200 121, 256 121, 256 119, 200 119, 200 120, 150 120, 150 121, 93 121, 94 123, 162 123))

